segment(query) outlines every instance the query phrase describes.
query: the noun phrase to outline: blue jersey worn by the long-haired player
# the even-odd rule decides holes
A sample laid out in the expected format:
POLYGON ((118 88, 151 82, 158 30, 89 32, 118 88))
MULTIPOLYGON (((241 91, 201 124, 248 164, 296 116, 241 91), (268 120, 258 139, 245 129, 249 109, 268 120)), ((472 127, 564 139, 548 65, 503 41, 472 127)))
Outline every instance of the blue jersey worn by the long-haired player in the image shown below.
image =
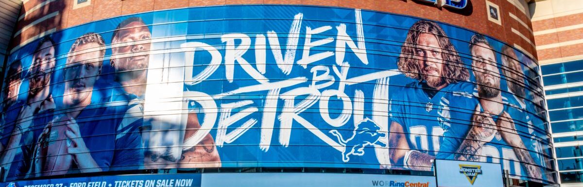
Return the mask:
POLYGON ((451 91, 472 90, 466 82, 451 83, 430 97, 422 82, 412 82, 396 89, 390 101, 391 120, 403 126, 412 150, 435 156, 440 149, 443 130, 438 123, 440 100, 451 91))

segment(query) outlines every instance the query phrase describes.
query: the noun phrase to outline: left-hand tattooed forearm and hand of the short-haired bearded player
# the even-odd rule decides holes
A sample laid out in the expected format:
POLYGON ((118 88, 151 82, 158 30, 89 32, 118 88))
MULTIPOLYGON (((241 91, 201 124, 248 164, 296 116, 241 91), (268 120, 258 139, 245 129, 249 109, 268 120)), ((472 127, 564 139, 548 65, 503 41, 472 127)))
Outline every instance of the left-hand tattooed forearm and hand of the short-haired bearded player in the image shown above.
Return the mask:
POLYGON ((490 142, 496 133, 494 120, 489 114, 480 112, 480 108, 480 105, 476 105, 472 115, 472 128, 454 154, 455 160, 479 161, 484 143, 490 142))

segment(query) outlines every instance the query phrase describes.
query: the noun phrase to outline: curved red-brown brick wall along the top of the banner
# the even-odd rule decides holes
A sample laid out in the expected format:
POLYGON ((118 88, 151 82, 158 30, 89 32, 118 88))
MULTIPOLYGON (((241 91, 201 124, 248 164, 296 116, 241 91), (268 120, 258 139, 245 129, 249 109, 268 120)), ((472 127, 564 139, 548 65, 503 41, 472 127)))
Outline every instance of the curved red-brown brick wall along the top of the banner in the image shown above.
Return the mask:
POLYGON ((26 30, 14 36, 11 47, 17 48, 36 37, 67 27, 132 13, 189 6, 290 4, 360 8, 437 20, 489 35, 515 47, 518 45, 526 53, 536 57, 535 47, 532 45, 534 38, 530 31, 532 26, 529 16, 518 9, 517 5, 511 3, 511 1, 522 0, 489 0, 499 6, 501 24, 490 22, 487 19, 486 0, 469 0, 469 5, 462 10, 437 8, 430 3, 419 0, 88 0, 89 3, 86 6, 74 7, 75 1, 77 0, 53 0, 44 5, 43 8, 35 10, 33 10, 35 6, 47 1, 30 0, 25 2, 21 12, 26 14, 26 17, 18 23, 16 30, 23 28, 26 30), (54 12, 58 12, 58 14, 30 27, 37 20, 54 12), (516 19, 510 14, 514 15, 516 19), (517 31, 526 39, 520 37, 517 31))

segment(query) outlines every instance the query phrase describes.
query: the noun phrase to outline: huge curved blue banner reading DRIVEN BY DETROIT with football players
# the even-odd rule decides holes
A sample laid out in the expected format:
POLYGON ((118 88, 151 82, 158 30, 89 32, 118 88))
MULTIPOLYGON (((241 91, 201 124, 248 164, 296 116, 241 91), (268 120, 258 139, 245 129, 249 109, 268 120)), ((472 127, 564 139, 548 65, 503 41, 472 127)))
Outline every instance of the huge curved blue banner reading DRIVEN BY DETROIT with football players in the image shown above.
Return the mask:
POLYGON ((201 167, 431 171, 553 182, 538 68, 431 20, 316 6, 115 17, 15 50, 6 179, 201 167))

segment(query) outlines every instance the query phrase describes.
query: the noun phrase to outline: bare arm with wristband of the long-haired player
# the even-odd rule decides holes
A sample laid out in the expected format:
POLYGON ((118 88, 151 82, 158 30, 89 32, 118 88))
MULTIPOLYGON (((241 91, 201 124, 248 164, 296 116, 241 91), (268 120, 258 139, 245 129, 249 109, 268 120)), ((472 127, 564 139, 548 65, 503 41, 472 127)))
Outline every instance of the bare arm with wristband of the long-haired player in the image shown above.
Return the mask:
POLYGON ((420 151, 410 150, 405 130, 398 122, 391 123, 388 146, 392 163, 398 163, 399 160, 403 159, 403 165, 411 170, 431 170, 431 160, 435 159, 435 157, 420 151))

